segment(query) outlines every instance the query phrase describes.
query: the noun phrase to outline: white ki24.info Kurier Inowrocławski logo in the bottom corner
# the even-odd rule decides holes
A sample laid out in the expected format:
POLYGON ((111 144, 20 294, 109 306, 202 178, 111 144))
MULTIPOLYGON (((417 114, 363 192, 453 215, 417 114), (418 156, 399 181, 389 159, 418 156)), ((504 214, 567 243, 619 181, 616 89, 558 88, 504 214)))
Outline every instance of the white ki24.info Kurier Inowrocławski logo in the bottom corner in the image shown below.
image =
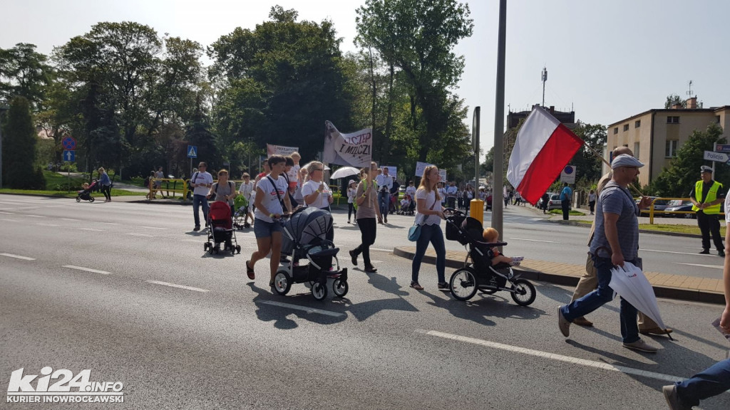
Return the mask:
POLYGON ((24 368, 10 374, 6 403, 124 403, 122 382, 91 382, 91 370, 76 376, 65 368, 46 366, 37 374, 23 375, 24 368), (51 384, 51 381, 54 381, 51 384), (35 382, 35 387, 31 384, 35 382))

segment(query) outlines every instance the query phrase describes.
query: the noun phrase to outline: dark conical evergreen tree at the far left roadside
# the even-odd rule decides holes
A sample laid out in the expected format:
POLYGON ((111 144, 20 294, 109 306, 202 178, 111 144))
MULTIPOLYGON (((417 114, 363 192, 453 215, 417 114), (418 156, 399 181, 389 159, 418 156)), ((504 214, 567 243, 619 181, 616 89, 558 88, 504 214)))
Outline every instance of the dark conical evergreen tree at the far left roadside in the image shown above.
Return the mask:
POLYGON ((45 188, 43 172, 36 164, 38 136, 27 98, 17 96, 10 100, 2 134, 3 185, 16 189, 45 188))

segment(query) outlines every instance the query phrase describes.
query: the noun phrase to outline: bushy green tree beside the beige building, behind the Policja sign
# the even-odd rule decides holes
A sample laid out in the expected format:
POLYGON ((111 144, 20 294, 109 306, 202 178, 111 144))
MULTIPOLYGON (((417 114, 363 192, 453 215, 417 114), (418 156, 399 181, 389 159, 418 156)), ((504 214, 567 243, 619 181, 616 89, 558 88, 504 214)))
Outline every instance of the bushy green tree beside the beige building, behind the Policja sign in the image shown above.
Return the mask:
MULTIPOLYGON (((724 144, 726 139, 722 138, 723 128, 716 123, 711 123, 707 129, 695 130, 677 150, 677 157, 672 159, 668 169, 652 182, 650 190, 657 196, 685 198, 693 189, 695 182, 699 181, 699 169, 707 165, 704 158, 704 151, 714 150, 715 142, 724 144)), ((730 170, 723 163, 715 166, 715 179, 723 184, 730 183, 730 170)))

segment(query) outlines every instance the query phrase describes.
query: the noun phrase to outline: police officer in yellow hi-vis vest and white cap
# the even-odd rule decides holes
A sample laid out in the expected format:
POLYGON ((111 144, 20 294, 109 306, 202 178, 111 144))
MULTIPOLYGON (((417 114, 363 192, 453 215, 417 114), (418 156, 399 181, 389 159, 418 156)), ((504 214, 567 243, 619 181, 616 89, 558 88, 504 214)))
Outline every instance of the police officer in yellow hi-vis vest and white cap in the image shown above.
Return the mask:
POLYGON ((720 237, 720 204, 725 201, 725 190, 720 182, 712 180, 712 168, 702 166, 700 168, 702 179, 694 185, 694 190, 689 194, 692 201, 692 210, 697 213, 697 225, 702 232, 702 253, 710 253, 710 232, 712 241, 718 249, 718 256, 725 258, 725 247, 720 237))

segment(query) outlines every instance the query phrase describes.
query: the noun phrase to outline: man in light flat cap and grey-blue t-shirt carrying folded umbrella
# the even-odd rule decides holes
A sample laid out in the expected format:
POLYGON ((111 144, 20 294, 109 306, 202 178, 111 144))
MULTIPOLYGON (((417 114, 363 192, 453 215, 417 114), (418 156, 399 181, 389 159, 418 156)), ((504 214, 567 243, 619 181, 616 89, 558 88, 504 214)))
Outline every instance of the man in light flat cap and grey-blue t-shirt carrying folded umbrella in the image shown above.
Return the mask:
MULTIPOLYGON (((634 202, 629 192, 629 184, 639 175, 639 168, 644 166, 631 155, 618 155, 611 163, 613 175, 611 181, 601 191, 596 204, 596 232, 591 241, 591 255, 596 266, 598 289, 572 301, 568 305, 558 306, 558 328, 563 336, 570 334, 570 324, 575 318, 593 312, 605 303, 612 301, 613 290, 611 268, 623 266, 623 262, 637 263, 639 250, 639 209, 651 204, 651 198, 645 196, 634 202)), ((640 352, 654 353, 656 347, 639 338, 637 325, 637 308, 621 298, 621 339, 623 347, 640 352)))

